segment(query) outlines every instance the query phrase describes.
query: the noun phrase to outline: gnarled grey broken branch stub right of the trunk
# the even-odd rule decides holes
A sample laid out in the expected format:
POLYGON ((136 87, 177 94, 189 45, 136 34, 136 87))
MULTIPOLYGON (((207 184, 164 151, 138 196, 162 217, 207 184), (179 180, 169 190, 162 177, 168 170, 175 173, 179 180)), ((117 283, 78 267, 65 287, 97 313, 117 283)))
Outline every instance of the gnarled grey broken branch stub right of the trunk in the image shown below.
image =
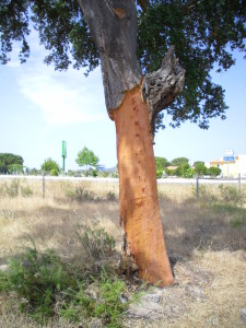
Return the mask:
POLYGON ((154 136, 157 114, 169 106, 181 93, 185 82, 185 70, 171 47, 163 59, 160 70, 147 74, 142 84, 142 97, 149 105, 149 119, 154 136))

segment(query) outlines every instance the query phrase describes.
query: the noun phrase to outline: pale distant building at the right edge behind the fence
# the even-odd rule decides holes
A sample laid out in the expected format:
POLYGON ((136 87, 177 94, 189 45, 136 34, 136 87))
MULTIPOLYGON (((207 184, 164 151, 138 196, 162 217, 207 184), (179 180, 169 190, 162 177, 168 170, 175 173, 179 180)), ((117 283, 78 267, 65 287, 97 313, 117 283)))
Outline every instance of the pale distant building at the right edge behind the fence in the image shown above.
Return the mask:
POLYGON ((210 168, 211 166, 216 166, 221 168, 221 173, 224 177, 246 177, 246 154, 235 155, 235 161, 225 162, 223 157, 212 162, 207 162, 204 165, 210 168))

